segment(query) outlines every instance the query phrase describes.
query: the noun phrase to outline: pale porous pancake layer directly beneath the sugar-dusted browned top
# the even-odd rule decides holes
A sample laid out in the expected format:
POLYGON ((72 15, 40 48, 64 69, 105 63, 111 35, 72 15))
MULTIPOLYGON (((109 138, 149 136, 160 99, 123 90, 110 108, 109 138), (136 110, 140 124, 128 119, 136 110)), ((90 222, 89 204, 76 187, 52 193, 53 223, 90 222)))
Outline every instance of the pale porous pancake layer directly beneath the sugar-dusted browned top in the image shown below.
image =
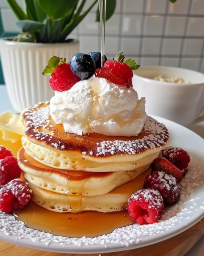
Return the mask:
POLYGON ((63 153, 32 143, 25 136, 22 137, 22 145, 28 154, 47 166, 59 169, 83 170, 84 172, 116 172, 119 170, 135 170, 149 165, 152 163, 153 159, 158 156, 158 152, 156 152, 147 155, 142 159, 129 162, 100 163, 84 158, 73 161, 63 153))

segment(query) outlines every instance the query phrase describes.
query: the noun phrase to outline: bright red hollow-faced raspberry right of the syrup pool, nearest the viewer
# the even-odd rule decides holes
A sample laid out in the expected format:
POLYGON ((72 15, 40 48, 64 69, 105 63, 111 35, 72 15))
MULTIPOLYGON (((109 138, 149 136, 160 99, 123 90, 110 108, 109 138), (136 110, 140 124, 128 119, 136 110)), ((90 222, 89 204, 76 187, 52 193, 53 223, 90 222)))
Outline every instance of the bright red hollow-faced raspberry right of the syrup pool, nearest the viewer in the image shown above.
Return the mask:
POLYGON ((153 224, 159 219, 164 204, 161 194, 153 189, 136 191, 128 200, 127 210, 138 224, 153 224))

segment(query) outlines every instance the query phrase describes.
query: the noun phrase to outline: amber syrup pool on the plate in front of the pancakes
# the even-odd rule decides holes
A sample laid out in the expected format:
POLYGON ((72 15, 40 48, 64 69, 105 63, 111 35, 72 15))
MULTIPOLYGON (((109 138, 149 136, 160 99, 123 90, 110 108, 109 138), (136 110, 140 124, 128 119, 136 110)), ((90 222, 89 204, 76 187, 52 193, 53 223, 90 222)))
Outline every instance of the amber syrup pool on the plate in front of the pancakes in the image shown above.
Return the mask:
POLYGON ((78 238, 108 234, 116 228, 134 223, 126 210, 112 213, 57 213, 33 202, 30 202, 23 210, 15 210, 14 215, 17 220, 23 221, 29 228, 53 235, 78 238))

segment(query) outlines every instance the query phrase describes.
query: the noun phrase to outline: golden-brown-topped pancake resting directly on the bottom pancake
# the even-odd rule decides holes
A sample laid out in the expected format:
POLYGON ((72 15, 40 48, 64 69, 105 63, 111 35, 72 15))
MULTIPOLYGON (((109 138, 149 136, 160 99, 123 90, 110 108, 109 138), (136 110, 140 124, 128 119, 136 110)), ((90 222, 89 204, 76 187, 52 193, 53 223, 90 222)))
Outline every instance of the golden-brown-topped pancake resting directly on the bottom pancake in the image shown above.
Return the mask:
POLYGON ((48 167, 26 153, 19 151, 18 164, 30 185, 59 194, 75 196, 103 195, 117 186, 129 182, 146 170, 149 165, 129 172, 121 170, 108 173, 90 173, 80 170, 64 170, 48 167))

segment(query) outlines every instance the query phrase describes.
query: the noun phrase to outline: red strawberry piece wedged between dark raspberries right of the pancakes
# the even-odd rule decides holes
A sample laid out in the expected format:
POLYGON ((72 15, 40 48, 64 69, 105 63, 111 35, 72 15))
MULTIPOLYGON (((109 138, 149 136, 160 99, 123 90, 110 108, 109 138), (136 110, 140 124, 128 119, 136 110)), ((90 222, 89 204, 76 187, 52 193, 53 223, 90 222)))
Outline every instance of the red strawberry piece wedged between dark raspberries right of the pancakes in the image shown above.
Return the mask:
POLYGON ((176 178, 177 182, 180 182, 183 177, 181 171, 164 157, 153 160, 152 171, 164 172, 168 175, 172 175, 174 178, 176 178))

